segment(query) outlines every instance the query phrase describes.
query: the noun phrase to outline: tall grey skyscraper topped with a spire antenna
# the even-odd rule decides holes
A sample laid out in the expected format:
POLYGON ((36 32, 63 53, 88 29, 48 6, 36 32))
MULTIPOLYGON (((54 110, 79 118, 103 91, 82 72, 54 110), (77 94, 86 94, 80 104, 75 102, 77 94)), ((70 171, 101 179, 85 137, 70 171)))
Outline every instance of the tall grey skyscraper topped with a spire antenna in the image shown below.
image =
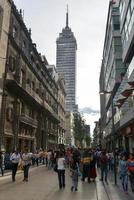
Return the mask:
POLYGON ((66 13, 66 26, 56 41, 57 56, 56 67, 58 73, 65 78, 66 111, 76 110, 76 50, 77 43, 71 28, 68 26, 68 9, 66 13))

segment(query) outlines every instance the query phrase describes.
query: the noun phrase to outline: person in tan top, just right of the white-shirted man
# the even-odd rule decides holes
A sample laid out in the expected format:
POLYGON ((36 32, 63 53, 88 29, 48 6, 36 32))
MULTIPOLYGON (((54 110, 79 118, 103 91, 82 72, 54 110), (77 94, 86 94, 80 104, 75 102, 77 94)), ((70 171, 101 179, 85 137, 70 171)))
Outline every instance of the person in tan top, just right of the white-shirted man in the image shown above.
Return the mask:
POLYGON ((28 153, 28 149, 25 149, 25 152, 22 154, 22 162, 23 162, 23 170, 24 170, 24 179, 23 181, 28 181, 29 175, 29 167, 31 166, 32 162, 32 154, 28 153))

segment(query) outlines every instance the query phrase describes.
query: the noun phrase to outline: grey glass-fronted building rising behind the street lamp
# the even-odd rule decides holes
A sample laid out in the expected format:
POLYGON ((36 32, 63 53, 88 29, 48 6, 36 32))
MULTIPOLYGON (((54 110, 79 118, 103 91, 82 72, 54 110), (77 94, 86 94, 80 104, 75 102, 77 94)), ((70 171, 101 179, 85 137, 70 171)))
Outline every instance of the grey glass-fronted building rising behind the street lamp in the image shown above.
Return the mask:
POLYGON ((116 112, 112 109, 112 101, 119 99, 121 82, 126 72, 126 66, 122 62, 122 41, 120 33, 119 0, 109 2, 103 59, 100 72, 100 96, 101 119, 100 138, 103 135, 106 148, 111 150, 115 144, 113 141, 113 118, 116 120, 116 112), (108 94, 109 93, 109 94, 108 94), (113 116, 114 115, 114 116, 113 116))

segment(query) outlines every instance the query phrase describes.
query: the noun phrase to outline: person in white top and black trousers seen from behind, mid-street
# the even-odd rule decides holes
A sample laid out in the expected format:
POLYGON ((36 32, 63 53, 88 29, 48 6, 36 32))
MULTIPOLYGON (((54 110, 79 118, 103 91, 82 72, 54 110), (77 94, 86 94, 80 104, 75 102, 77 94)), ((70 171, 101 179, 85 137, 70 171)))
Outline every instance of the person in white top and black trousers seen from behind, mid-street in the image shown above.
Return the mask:
POLYGON ((57 159, 57 169, 59 189, 62 189, 65 188, 65 158, 62 152, 59 154, 59 158, 57 159))

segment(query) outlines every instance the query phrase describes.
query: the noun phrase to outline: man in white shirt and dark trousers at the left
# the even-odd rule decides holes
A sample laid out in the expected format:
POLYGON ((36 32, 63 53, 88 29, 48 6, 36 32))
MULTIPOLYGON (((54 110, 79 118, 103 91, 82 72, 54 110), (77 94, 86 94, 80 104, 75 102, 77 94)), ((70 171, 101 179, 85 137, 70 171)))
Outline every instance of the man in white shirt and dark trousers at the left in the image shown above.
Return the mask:
POLYGON ((21 157, 20 157, 18 150, 14 151, 10 157, 10 160, 12 161, 12 181, 13 182, 15 181, 17 167, 18 167, 18 163, 19 163, 20 159, 21 159, 21 157))

